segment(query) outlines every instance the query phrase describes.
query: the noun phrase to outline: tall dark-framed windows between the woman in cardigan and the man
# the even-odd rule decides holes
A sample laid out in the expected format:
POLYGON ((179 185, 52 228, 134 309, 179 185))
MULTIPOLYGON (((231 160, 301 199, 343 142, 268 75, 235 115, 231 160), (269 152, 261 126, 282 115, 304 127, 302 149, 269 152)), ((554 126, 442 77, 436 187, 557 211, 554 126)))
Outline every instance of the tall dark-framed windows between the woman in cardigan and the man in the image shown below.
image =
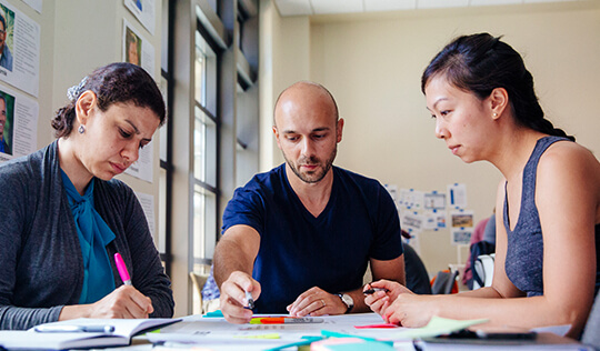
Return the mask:
MULTIPOLYGON (((254 114, 258 118, 258 89, 253 87, 258 62, 249 63, 237 44, 238 21, 252 18, 237 14, 238 1, 162 2, 169 10, 169 23, 163 24, 169 54, 163 54, 162 63, 166 86, 170 88, 171 126, 160 138, 159 225, 167 242, 164 258, 170 259, 176 314, 183 315, 202 312, 200 294, 192 289, 189 273, 208 273, 210 269, 223 204, 232 195, 240 173, 238 158, 244 159, 240 163, 246 170, 243 177, 258 169, 258 158, 253 159, 253 154, 258 156, 258 123, 252 122, 254 114), (240 62, 244 67, 241 72, 240 62), (238 91, 237 87, 243 89, 238 91), (243 112, 240 127, 254 126, 240 133, 236 120, 242 117, 236 106, 242 100, 250 109, 243 112), (236 151, 238 136, 248 140, 243 157, 236 151)), ((258 33, 256 29, 251 32, 258 33)), ((254 38, 257 52, 257 36, 244 38, 244 42, 254 38)))

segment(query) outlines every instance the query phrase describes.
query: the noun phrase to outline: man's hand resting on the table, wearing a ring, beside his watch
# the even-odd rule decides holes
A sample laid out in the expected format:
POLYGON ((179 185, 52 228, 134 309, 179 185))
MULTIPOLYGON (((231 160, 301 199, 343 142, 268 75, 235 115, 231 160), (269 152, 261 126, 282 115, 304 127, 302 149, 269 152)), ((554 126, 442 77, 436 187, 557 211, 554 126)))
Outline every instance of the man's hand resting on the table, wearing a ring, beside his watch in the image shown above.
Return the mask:
POLYGON ((338 295, 314 287, 300 294, 287 310, 292 317, 304 317, 343 314, 348 307, 338 295))

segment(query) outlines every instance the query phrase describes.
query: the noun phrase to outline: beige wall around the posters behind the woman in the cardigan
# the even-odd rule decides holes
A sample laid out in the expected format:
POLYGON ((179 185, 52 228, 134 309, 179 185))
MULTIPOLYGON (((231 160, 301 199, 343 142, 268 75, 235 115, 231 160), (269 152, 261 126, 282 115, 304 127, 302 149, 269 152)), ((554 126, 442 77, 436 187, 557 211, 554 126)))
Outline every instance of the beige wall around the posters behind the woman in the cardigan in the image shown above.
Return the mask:
MULTIPOLYGON (((67 103, 67 89, 79 83, 93 69, 121 61, 123 18, 154 47, 156 70, 152 73, 154 78, 160 77, 161 7, 156 9, 156 31, 154 36, 151 36, 122 1, 46 0, 41 13, 22 1, 8 0, 7 4, 40 26, 39 97, 29 96, 39 103, 38 149, 54 140, 50 121, 54 112, 67 103)), ((20 91, 3 81, 0 81, 0 87, 20 91)), ((134 191, 158 197, 160 167, 158 133, 153 140, 156 141, 153 182, 149 183, 128 174, 119 178, 134 191)), ((154 207, 158 213, 158 198, 154 199, 154 207)), ((158 215, 156 220, 154 224, 158 228, 158 215)))

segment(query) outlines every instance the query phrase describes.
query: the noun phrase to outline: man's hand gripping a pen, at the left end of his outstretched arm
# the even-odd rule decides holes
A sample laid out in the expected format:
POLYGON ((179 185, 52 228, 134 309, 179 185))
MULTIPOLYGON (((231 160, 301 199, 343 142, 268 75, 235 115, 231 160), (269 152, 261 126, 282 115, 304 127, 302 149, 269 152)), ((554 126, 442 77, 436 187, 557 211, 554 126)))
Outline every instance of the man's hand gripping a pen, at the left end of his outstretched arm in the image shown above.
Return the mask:
POLYGON ((260 283, 249 274, 236 271, 229 275, 221 285, 221 312, 230 323, 248 323, 252 319, 252 310, 248 309, 246 292, 252 294, 253 300, 260 297, 260 283))

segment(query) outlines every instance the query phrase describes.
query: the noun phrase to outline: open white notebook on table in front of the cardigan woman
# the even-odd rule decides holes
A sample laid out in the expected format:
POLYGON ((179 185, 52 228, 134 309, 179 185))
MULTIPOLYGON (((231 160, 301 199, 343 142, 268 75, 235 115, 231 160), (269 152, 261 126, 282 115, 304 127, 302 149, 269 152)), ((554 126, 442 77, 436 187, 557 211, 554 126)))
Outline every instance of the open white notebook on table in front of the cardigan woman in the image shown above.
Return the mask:
MULTIPOLYGON (((36 328, 27 331, 0 331, 0 347, 14 350, 64 350, 128 345, 136 334, 158 329, 180 321, 180 319, 74 319, 41 325, 112 327, 112 332, 38 332, 36 328)), ((41 327, 38 325, 38 327, 41 327)), ((107 328, 107 329, 112 329, 107 328)), ((56 329, 54 329, 56 330, 56 329)))

